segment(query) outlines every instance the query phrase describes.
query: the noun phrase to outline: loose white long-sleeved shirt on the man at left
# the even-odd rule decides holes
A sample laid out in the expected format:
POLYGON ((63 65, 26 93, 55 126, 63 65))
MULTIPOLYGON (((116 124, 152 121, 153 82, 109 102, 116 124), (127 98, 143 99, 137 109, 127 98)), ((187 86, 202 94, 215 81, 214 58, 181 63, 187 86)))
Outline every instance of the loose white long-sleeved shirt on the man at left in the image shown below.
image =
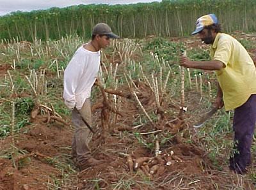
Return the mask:
POLYGON ((80 110, 90 98, 100 66, 100 52, 90 52, 83 45, 76 50, 64 71, 63 98, 68 108, 80 110))

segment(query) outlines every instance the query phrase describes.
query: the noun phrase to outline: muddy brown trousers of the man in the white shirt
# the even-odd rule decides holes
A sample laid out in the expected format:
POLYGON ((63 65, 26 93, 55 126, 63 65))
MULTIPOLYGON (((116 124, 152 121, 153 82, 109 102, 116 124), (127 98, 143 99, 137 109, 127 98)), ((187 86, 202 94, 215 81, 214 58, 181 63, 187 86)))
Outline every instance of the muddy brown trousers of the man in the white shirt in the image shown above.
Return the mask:
POLYGON ((83 122, 83 119, 92 126, 92 113, 90 98, 87 98, 81 110, 74 108, 72 111, 72 122, 75 126, 75 132, 72 139, 72 156, 76 158, 77 164, 83 166, 86 161, 92 157, 88 143, 90 142, 92 132, 83 122))

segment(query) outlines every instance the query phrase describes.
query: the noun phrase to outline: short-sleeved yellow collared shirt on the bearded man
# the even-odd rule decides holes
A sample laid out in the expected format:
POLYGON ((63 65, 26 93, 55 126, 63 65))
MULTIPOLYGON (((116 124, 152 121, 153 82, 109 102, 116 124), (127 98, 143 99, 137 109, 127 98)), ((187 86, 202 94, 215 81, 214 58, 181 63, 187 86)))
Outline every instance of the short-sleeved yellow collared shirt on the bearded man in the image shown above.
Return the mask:
POLYGON ((211 46, 211 59, 225 64, 216 71, 223 92, 225 110, 243 105, 256 94, 256 68, 246 49, 228 34, 218 33, 211 46))

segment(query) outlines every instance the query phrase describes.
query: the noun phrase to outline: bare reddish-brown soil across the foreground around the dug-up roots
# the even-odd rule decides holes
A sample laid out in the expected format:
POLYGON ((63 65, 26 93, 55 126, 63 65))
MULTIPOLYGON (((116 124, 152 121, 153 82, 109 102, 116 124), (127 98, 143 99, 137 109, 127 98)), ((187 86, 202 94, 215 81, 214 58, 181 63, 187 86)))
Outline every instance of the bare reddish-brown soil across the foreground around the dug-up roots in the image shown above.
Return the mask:
MULTIPOLYGON (((119 61, 116 59, 116 62, 119 61)), ((8 66, 0 65, 0 77, 7 69, 8 66)), ((149 87, 140 82, 135 83, 140 90, 138 98, 147 112, 156 111, 156 102, 149 87)), ((122 91, 129 93, 127 86, 122 87, 122 91)), ((198 105, 200 95, 196 92, 188 92, 186 95, 188 110, 198 109, 198 112, 203 112, 198 105)), ((97 103, 101 101, 102 96, 99 94, 97 103)), ((109 102, 113 105, 113 101, 109 102)), ((136 129, 131 127, 140 124, 138 117, 143 112, 134 98, 118 98, 117 109, 124 117, 110 112, 107 118, 109 124, 105 123, 107 128, 104 129, 100 128, 100 109, 95 110, 93 126, 98 128, 90 147, 93 156, 101 159, 102 163, 81 172, 78 172, 70 156, 73 128, 59 122, 45 123, 36 117, 33 124, 23 128, 19 134, 1 140, 0 150, 6 151, 6 157, 0 158, 0 189, 119 189, 121 185, 127 189, 234 189, 239 176, 228 170, 226 160, 221 160, 221 156, 216 157, 216 160, 223 163, 222 168, 212 163, 197 132, 189 127, 195 122, 196 115, 184 113, 185 120, 181 121, 178 117, 178 102, 170 101, 164 95, 161 97, 161 108, 157 109, 154 126, 148 122, 136 129), (160 157, 168 159, 173 151, 173 155, 179 159, 172 159, 169 166, 163 164, 161 172, 149 177, 141 170, 129 172, 125 154, 131 155, 132 159, 155 156, 156 133, 136 134, 159 129, 162 130, 157 133, 159 140, 165 140, 160 143, 160 157), (168 135, 172 135, 172 138, 168 138, 168 135), (153 146, 150 148, 147 144, 146 147, 143 142, 153 143, 153 146), (65 178, 72 170, 77 172, 65 178)), ((70 124, 70 119, 68 122, 70 124)), ((253 168, 255 170, 255 166, 249 169, 253 168)), ((243 183, 244 189, 255 188, 252 181, 246 180, 243 183)))

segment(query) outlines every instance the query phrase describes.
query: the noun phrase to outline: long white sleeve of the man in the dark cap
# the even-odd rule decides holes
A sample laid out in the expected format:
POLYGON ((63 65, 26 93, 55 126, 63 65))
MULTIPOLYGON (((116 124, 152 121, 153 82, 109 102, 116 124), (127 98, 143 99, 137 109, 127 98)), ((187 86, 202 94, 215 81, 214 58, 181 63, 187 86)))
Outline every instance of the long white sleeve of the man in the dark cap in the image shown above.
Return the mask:
POLYGON ((75 54, 64 71, 63 98, 65 99, 65 105, 71 109, 76 105, 76 89, 79 85, 79 78, 83 73, 83 59, 84 57, 81 55, 75 54))

